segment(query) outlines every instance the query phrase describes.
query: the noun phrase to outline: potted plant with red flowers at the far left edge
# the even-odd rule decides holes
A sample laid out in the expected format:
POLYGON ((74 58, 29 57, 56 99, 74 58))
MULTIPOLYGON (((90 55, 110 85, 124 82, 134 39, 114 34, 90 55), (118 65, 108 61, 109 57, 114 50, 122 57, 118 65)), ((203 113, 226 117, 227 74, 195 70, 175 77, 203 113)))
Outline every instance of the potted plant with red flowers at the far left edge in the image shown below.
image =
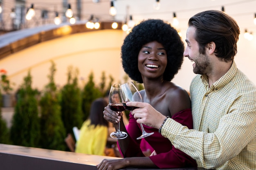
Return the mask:
POLYGON ((4 69, 0 70, 1 73, 1 88, 2 88, 2 106, 3 107, 11 107, 12 106, 12 96, 11 91, 13 88, 11 88, 10 81, 7 77, 7 71, 4 69))

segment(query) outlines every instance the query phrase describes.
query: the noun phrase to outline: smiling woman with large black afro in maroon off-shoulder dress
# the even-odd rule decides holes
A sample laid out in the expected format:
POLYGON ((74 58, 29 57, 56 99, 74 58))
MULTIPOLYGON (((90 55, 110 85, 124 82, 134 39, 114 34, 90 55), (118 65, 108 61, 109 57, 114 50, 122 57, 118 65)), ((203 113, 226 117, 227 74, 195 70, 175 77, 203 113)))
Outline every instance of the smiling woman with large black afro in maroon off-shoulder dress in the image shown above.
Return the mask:
MULTIPOLYGON (((177 31, 162 20, 145 20, 135 26, 126 36, 121 47, 124 71, 129 77, 143 83, 145 90, 140 91, 143 101, 151 104, 165 116, 193 128, 191 102, 188 93, 173 82, 174 75, 183 62, 184 44, 177 31)), ((121 121, 121 130, 126 131, 121 116, 105 107, 104 118, 115 124, 121 121)), ((196 167, 194 159, 173 147, 164 138, 160 129, 144 125, 146 132, 154 132, 144 139, 155 150, 155 155, 145 157, 139 148, 141 140, 140 125, 130 114, 128 137, 118 140, 124 159, 104 159, 99 170, 120 169, 124 167, 180 168, 196 167)))

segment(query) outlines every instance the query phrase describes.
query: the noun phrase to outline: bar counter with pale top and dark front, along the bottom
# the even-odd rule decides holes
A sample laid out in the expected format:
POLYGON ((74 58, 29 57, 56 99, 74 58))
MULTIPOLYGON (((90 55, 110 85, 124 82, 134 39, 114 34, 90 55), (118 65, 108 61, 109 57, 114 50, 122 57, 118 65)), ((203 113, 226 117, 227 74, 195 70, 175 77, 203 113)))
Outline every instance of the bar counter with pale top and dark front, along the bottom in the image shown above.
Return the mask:
MULTIPOLYGON (((1 170, 97 170, 95 165, 100 163, 103 159, 121 158, 0 144, 1 170)), ((156 170, 148 168, 124 168, 122 170, 138 169, 156 170)), ((174 168, 168 170, 205 169, 174 168)))

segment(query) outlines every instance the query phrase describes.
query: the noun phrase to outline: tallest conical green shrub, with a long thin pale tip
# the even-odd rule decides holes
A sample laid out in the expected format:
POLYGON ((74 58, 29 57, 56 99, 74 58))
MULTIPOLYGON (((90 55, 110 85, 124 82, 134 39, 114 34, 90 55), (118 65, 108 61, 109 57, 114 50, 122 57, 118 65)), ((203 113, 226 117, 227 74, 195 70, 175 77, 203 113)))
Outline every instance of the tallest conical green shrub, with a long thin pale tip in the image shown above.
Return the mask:
POLYGON ((61 119, 60 96, 54 83, 55 72, 56 67, 52 62, 48 75, 49 84, 45 86, 45 91, 40 99, 40 145, 45 149, 65 150, 66 130, 61 119))

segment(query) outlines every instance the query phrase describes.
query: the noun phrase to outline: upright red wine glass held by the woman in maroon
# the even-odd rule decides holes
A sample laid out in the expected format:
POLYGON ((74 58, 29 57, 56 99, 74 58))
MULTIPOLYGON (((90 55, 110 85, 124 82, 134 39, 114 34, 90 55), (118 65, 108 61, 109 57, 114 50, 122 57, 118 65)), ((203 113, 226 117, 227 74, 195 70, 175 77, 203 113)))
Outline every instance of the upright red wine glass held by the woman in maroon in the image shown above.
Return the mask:
MULTIPOLYGON (((121 101, 120 85, 121 84, 113 84, 111 86, 108 103, 109 108, 118 114, 125 110, 121 101)), ((124 139, 127 137, 126 132, 120 131, 120 122, 117 123, 117 131, 110 133, 110 137, 113 139, 124 139)))

